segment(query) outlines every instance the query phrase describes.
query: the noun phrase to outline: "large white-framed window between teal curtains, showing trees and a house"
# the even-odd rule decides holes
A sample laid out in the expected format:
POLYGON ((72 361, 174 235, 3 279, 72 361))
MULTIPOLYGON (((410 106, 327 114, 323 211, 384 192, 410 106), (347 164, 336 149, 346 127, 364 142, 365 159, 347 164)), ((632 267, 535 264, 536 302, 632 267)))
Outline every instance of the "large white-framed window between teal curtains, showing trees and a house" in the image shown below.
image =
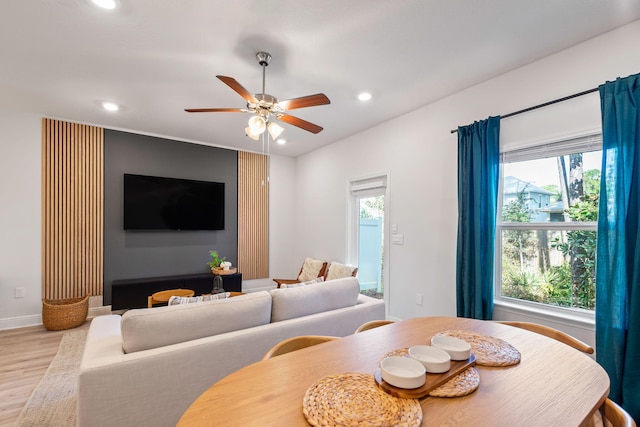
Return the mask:
POLYGON ((595 308, 601 135, 502 154, 496 300, 595 308))

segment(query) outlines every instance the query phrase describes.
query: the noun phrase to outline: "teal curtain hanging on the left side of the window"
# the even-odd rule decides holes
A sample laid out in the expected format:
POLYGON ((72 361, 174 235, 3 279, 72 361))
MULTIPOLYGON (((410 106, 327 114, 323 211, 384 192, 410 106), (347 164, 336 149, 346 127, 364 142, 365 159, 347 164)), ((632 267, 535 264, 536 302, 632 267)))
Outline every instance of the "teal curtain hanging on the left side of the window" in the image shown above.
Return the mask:
POLYGON ((458 128, 458 250, 460 317, 493 316, 493 249, 500 172, 500 117, 458 128))

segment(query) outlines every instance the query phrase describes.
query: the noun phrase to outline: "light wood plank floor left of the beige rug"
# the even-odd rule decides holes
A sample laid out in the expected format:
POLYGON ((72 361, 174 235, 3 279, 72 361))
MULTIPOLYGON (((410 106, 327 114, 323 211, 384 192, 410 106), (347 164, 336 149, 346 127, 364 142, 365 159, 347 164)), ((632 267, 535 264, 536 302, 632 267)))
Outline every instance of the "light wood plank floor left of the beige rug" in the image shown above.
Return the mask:
POLYGON ((44 326, 0 331, 0 427, 14 425, 58 352, 64 332, 44 326))

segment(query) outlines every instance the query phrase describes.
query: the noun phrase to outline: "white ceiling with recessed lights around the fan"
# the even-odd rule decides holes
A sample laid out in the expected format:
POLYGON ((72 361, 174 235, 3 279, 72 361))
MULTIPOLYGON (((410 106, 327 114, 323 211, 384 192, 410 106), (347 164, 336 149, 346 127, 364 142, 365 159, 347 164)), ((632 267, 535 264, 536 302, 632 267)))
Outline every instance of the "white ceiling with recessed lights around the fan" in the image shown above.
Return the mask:
POLYGON ((3 0, 0 109, 261 151, 248 114, 184 108, 244 108, 215 76, 261 92, 263 50, 267 93, 331 99, 291 113, 321 133, 283 124, 288 143, 272 153, 299 156, 640 19, 637 0, 117 3, 3 0))

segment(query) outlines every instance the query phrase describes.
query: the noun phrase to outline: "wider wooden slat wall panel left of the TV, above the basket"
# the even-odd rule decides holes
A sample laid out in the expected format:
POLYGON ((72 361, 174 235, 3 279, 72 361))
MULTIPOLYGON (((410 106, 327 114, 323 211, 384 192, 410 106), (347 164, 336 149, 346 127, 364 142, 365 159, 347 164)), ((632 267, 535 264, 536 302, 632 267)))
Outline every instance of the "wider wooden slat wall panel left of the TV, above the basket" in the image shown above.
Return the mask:
POLYGON ((102 295, 104 129, 42 119, 42 296, 102 295))

